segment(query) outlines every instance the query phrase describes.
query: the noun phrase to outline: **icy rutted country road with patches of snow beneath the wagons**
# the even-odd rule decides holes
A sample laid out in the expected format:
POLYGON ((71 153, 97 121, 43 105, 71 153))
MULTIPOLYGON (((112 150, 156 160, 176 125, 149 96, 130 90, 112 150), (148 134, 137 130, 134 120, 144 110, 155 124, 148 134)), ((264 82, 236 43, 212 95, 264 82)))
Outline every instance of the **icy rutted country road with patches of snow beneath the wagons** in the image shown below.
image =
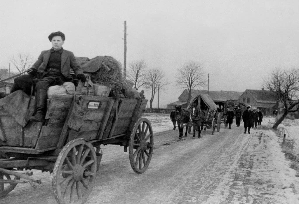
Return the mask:
MULTIPOLYGON (((265 123, 243 134, 242 126, 201 139, 178 139, 169 115, 144 115, 155 133, 149 168, 136 174, 128 153, 104 146, 100 171, 87 203, 298 203, 299 180, 265 123), (167 144, 167 145, 165 145, 167 144)), ((54 203, 49 173, 34 191, 19 184, 0 203, 54 203)))

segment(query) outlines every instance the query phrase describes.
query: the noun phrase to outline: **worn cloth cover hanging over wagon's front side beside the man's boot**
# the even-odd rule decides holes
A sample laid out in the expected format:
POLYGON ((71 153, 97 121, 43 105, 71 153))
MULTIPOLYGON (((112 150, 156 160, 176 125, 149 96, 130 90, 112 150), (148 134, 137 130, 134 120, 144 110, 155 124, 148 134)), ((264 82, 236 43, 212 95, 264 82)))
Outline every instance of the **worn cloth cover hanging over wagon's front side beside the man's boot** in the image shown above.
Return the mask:
POLYGON ((14 120, 25 127, 35 110, 35 99, 22 90, 17 90, 0 99, 0 109, 8 112, 14 120))

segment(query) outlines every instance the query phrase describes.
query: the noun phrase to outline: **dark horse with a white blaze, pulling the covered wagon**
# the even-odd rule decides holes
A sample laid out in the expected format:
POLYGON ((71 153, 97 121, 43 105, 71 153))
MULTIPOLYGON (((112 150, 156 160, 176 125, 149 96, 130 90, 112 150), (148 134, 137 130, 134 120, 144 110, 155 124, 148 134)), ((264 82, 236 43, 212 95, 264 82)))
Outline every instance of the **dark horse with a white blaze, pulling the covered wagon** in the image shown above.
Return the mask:
POLYGON ((191 119, 193 122, 193 137, 195 139, 196 131, 198 131, 198 138, 200 138, 200 132, 203 128, 203 124, 205 122, 205 112, 203 112, 197 103, 193 102, 190 104, 191 109, 191 119))

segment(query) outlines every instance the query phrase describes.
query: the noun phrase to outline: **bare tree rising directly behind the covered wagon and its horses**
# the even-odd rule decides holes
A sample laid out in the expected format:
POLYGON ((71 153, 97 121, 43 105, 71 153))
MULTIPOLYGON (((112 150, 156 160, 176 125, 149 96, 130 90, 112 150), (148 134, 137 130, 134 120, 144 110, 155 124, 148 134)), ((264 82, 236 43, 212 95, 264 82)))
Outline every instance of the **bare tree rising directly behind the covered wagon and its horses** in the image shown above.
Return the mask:
POLYGON ((176 75, 176 84, 187 88, 189 95, 187 103, 190 103, 191 92, 195 88, 204 87, 206 85, 205 72, 203 70, 202 64, 189 61, 178 69, 178 75, 176 75))

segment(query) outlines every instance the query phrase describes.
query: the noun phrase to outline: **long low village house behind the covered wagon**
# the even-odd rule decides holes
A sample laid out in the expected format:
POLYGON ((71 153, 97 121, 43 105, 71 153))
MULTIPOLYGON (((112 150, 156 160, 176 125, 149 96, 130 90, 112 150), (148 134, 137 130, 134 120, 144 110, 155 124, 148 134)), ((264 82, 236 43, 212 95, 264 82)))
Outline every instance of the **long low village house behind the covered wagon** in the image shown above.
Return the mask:
MULTIPOLYGON (((191 98, 196 97, 199 94, 209 94, 210 98, 217 103, 224 103, 225 101, 232 100, 233 103, 239 99, 240 95, 243 92, 236 91, 208 91, 207 90, 192 90, 191 98)), ((185 89, 181 95, 179 96, 179 101, 170 103, 167 105, 168 109, 175 108, 176 105, 181 105, 183 108, 187 108, 187 100, 188 100, 189 92, 188 89, 185 89)))

